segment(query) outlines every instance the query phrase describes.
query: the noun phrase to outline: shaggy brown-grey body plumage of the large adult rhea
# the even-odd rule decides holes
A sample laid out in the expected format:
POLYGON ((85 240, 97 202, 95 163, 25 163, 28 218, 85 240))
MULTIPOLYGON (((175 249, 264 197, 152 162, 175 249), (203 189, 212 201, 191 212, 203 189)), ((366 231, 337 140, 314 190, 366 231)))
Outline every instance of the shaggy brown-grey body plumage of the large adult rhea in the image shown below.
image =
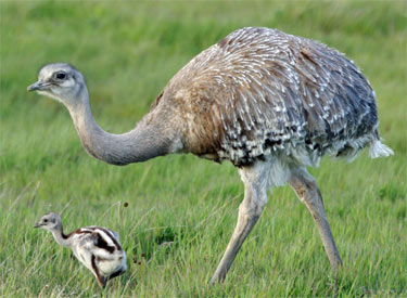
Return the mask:
POLYGON ((268 28, 237 30, 203 51, 160 105, 178 109, 186 152, 237 166, 293 147, 316 165, 327 152, 354 155, 378 139, 374 93, 355 64, 268 28))

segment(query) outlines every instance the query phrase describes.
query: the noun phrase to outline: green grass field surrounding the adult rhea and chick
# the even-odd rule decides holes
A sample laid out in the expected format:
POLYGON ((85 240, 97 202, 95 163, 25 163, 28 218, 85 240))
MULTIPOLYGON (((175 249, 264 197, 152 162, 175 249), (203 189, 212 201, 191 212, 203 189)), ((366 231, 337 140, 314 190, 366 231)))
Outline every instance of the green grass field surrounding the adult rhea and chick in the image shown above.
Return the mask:
POLYGON ((105 296, 406 297, 407 51, 403 2, 1 2, 0 296, 92 297, 94 277, 33 229, 60 212, 65 230, 116 230, 128 273, 105 296), (43 64, 87 77, 94 117, 130 130, 171 76, 236 28, 266 26, 345 52, 378 96, 380 132, 395 155, 323 159, 319 182, 344 265, 333 274, 314 221, 276 189, 226 282, 207 286, 234 229, 237 170, 191 155, 114 167, 90 158, 65 108, 26 87, 43 64), (124 203, 128 207, 124 207, 124 203), (167 245, 166 245, 167 244, 167 245))

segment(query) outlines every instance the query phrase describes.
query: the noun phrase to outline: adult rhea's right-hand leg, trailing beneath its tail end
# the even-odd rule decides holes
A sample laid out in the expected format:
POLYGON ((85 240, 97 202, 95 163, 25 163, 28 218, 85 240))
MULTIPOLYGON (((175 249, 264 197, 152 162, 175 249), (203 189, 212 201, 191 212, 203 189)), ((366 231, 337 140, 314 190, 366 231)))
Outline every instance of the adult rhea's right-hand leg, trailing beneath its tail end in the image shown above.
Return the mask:
POLYGON ((292 170, 292 176, 289 183, 295 191, 300 200, 307 206, 309 212, 313 215, 329 261, 333 270, 338 270, 338 268, 342 264, 342 261, 328 223, 322 196, 314 177, 310 176, 306 169, 296 168, 292 170))

